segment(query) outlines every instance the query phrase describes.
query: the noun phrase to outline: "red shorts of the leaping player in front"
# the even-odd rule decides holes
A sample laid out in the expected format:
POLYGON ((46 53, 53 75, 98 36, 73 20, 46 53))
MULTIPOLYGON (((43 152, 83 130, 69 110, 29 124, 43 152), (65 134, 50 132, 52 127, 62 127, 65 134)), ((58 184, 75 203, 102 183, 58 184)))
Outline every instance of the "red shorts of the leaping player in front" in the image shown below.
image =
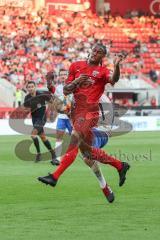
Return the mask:
POLYGON ((71 114, 73 129, 77 131, 83 140, 89 145, 92 144, 92 128, 97 126, 99 111, 73 110, 71 114))

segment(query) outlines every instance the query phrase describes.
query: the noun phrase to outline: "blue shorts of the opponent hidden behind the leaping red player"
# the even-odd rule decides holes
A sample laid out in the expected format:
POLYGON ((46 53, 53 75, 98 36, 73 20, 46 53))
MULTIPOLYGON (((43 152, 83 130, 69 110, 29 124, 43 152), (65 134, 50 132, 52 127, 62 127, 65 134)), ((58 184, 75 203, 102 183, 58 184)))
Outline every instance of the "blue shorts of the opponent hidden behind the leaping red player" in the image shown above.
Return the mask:
POLYGON ((93 142, 92 146, 96 148, 103 148, 108 143, 108 135, 106 132, 93 128, 93 142))

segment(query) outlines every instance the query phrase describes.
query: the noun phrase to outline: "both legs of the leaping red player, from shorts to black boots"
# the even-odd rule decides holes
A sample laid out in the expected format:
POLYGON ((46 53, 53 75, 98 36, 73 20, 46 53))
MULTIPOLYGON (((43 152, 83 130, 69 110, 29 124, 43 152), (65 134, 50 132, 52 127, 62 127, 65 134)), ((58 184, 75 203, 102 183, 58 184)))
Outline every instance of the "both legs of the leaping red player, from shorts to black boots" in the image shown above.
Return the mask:
POLYGON ((42 181, 46 184, 50 184, 55 186, 57 180, 61 176, 61 174, 74 162, 78 153, 78 146, 81 150, 81 153, 84 157, 89 159, 95 159, 104 164, 110 164, 114 166, 120 176, 119 185, 122 186, 125 182, 126 172, 129 169, 129 165, 127 163, 122 163, 120 160, 113 158, 106 154, 103 150, 94 148, 89 145, 89 141, 91 142, 92 136, 92 128, 98 122, 97 118, 85 118, 85 115, 78 116, 74 123, 74 130, 71 135, 71 143, 68 147, 66 154, 63 156, 60 166, 56 169, 56 171, 50 176, 40 177, 39 181, 42 181), (54 183, 53 183, 54 182, 54 183))

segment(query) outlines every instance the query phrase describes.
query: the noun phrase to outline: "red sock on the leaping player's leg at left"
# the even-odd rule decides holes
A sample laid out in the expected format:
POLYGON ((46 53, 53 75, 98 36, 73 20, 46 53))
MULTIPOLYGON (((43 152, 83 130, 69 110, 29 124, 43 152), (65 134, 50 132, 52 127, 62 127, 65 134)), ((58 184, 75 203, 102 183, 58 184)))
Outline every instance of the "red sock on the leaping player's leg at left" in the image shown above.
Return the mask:
POLYGON ((52 174, 53 177, 58 180, 60 175, 74 162, 78 154, 78 147, 72 146, 72 149, 68 149, 66 154, 62 157, 60 165, 57 167, 56 171, 52 174))

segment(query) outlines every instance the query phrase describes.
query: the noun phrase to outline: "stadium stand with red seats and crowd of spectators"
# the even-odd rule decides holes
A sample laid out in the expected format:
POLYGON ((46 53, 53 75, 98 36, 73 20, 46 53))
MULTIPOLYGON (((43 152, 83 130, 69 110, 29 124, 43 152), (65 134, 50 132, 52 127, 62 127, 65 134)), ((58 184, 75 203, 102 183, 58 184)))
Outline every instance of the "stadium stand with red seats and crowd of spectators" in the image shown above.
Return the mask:
POLYGON ((72 60, 86 58, 90 47, 103 41, 109 50, 107 66, 115 53, 129 53, 122 68, 126 84, 134 87, 138 81, 133 80, 141 79, 154 88, 160 84, 159 28, 154 16, 99 17, 90 11, 48 15, 44 9, 1 7, 0 78, 21 89, 28 80, 42 87, 48 71, 68 69, 72 60))

